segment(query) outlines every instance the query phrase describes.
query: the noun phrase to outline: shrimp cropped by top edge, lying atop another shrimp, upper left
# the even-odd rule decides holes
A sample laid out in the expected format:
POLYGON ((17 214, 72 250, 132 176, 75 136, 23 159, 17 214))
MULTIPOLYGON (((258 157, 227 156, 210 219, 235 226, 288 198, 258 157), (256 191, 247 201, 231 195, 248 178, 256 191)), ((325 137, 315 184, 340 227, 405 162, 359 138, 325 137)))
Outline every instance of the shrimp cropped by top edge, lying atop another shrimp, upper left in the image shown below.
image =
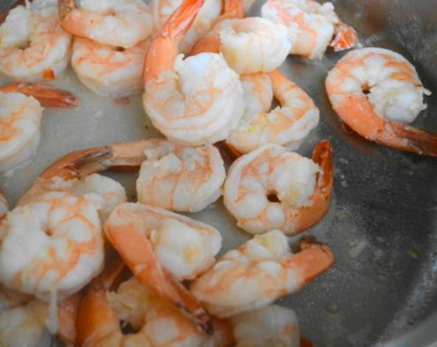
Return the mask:
POLYGON ((141 0, 59 0, 62 27, 104 45, 131 48, 152 32, 149 7, 141 0))

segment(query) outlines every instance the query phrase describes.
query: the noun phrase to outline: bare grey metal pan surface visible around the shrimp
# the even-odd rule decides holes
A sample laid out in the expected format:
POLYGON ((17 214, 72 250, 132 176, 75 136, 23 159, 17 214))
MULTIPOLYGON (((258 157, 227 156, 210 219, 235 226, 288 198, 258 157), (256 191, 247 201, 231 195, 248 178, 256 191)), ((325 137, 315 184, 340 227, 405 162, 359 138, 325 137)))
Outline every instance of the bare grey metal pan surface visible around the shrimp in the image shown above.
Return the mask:
MULTIPOLYGON (((261 5, 251 14, 259 14, 261 5)), ((337 0, 334 5, 343 20, 357 28, 363 45, 391 48, 416 65, 433 95, 415 124, 437 132, 434 1, 337 0)), ((1 6, 7 1, 0 1, 1 6)), ((328 52, 316 62, 292 57, 281 66, 321 111, 319 126, 299 152, 310 155, 321 139, 333 143, 331 208, 305 234, 329 244, 336 264, 279 303, 297 311, 303 334, 319 347, 428 346, 437 340, 437 160, 384 148, 343 131, 323 87, 326 72, 340 56, 328 52)), ((97 97, 71 69, 54 85, 76 93, 80 107, 45 110, 35 159, 12 177, 0 179, 12 204, 49 163, 69 151, 159 135, 144 115, 140 96, 129 98, 127 104, 97 97)), ((109 175, 123 182, 135 199, 134 175, 109 175)), ((221 231, 222 251, 248 239, 221 200, 193 216, 221 231)))

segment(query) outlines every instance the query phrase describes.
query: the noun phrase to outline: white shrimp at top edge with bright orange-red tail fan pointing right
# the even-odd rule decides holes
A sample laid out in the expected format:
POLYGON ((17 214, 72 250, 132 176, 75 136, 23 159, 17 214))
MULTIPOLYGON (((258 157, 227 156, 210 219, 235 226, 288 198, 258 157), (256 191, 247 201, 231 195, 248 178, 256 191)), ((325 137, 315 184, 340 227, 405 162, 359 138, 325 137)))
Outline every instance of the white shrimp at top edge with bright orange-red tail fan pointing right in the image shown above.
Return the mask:
POLYGON ((321 5, 314 0, 268 0, 261 14, 288 28, 290 54, 316 59, 323 56, 328 45, 341 51, 358 43, 356 31, 340 20, 329 2, 321 5))

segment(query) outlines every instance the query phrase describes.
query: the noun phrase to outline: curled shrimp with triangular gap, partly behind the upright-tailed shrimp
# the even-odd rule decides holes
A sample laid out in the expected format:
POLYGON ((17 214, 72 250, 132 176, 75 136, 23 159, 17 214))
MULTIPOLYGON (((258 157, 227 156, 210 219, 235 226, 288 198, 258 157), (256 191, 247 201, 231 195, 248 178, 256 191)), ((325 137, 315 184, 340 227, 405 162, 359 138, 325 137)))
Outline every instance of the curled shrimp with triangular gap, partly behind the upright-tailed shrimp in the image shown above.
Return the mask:
POLYGON ((299 86, 278 71, 241 76, 246 105, 238 128, 226 142, 240 153, 265 143, 295 150, 319 122, 319 109, 299 86), (281 107, 271 110, 273 97, 281 107))

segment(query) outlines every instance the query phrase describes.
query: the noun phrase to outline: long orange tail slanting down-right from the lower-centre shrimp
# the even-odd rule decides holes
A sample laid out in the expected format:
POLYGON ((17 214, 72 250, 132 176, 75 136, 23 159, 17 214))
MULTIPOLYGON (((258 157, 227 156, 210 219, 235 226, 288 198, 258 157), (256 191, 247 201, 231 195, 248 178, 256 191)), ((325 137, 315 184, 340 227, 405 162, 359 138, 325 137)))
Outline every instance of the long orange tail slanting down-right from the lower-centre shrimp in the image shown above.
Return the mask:
POLYGON ((108 240, 140 282, 158 295, 174 302, 205 333, 212 334, 212 320, 200 302, 160 265, 147 237, 135 225, 137 219, 127 211, 116 209, 105 224, 108 240), (113 218, 130 221, 122 225, 109 223, 113 218))

